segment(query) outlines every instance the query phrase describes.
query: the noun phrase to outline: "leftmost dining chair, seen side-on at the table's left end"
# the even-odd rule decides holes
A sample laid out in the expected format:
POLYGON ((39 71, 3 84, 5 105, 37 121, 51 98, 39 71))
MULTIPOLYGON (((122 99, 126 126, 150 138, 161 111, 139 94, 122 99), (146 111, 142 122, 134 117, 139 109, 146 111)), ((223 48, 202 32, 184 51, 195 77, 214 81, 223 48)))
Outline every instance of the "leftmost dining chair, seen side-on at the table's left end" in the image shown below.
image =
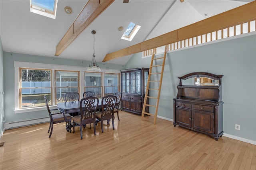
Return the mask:
POLYGON ((60 113, 60 112, 59 113, 51 113, 51 111, 58 110, 58 109, 50 109, 49 108, 49 105, 48 105, 45 95, 44 95, 44 102, 45 102, 45 105, 47 107, 47 110, 48 110, 48 113, 50 116, 50 125, 49 125, 49 129, 48 129, 48 133, 50 132, 50 129, 51 129, 51 132, 50 132, 49 138, 52 135, 53 124, 55 124, 55 123, 67 122, 67 124, 69 126, 69 130, 71 132, 71 116, 70 116, 70 114, 68 114, 68 113, 64 114, 64 113, 60 113))

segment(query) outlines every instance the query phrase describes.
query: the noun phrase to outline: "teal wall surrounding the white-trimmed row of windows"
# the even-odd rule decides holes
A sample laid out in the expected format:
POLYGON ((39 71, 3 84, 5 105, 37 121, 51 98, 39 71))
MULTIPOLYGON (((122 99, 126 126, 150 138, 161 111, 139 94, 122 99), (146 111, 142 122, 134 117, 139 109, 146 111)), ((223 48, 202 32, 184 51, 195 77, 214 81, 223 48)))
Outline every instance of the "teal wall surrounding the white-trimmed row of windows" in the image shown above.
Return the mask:
MULTIPOLYGON (((58 57, 42 57, 35 55, 4 52, 4 119, 6 119, 6 122, 30 120, 49 116, 46 110, 32 111, 27 113, 14 113, 14 82, 18 81, 14 80, 14 61, 82 67, 87 67, 90 64, 90 62, 82 62, 70 59, 59 59, 58 57)), ((98 64, 100 65, 100 68, 108 68, 115 70, 121 70, 123 68, 122 65, 118 64, 98 64)))

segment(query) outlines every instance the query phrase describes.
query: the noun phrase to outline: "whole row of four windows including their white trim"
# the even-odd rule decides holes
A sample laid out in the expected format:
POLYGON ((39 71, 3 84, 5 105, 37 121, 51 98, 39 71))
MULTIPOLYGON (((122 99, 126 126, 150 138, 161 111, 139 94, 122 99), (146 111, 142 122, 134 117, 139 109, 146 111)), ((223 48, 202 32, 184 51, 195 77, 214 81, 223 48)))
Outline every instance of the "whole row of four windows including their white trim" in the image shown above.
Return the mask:
MULTIPOLYGON (((120 74, 120 70, 113 69, 86 72, 85 67, 14 61, 14 80, 17 80, 14 83, 14 113, 45 111, 44 95, 50 109, 57 108, 57 103, 64 100, 66 92, 78 92, 82 98, 85 90, 92 90, 102 98, 105 89, 102 83, 104 72, 116 74, 118 77, 120 74)), ((109 83, 112 83, 114 88, 116 76, 107 78, 111 79, 109 83)))

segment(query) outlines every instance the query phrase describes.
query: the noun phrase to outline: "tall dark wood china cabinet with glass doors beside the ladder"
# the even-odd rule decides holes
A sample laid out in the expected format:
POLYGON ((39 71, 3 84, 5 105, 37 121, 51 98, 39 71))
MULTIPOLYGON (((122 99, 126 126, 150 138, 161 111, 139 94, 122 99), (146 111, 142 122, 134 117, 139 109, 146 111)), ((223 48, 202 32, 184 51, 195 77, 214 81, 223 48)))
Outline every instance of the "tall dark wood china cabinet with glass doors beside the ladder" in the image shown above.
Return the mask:
POLYGON ((148 82, 148 70, 149 68, 121 70, 122 110, 142 113, 148 82))

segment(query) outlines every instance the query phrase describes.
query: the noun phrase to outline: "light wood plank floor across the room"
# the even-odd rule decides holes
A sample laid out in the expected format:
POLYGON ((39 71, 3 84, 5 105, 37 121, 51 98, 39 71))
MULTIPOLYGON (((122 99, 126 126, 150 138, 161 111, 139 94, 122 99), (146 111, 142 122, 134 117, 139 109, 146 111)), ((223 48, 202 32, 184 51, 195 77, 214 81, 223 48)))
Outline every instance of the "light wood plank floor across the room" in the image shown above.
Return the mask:
POLYGON ((175 169, 256 170, 256 145, 227 137, 214 138, 172 122, 120 111, 115 130, 112 123, 65 130, 55 124, 48 138, 49 123, 6 130, 1 138, 1 170, 175 169))

